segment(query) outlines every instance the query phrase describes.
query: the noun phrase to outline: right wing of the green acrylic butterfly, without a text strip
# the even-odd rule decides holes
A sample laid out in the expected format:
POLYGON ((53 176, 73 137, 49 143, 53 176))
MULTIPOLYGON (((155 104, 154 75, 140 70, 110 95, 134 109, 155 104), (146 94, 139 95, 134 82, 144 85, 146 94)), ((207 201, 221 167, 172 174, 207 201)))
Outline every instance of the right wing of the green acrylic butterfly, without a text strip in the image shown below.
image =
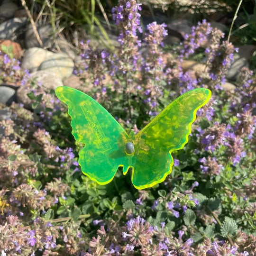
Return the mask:
MULTIPOLYGON (((210 100, 211 92, 199 88, 174 100, 143 128, 134 140, 132 183, 137 189, 152 187, 165 180, 173 166, 172 151, 188 142, 196 111, 210 100)), ((126 174, 124 170, 124 174, 126 174)))

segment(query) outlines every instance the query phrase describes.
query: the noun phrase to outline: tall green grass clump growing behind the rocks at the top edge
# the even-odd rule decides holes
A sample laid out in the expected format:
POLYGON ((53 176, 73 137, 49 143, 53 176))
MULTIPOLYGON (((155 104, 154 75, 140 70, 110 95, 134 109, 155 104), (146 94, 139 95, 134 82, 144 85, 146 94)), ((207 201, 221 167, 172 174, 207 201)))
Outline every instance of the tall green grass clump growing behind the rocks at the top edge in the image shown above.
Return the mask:
POLYGON ((71 30, 71 28, 79 30, 82 27, 92 37, 98 37, 102 42, 107 41, 110 44, 109 36, 103 26, 106 23, 110 29, 109 18, 105 11, 108 5, 105 1, 37 0, 37 3, 41 7, 40 13, 49 16, 55 34, 59 33, 62 27, 64 30, 71 30), (98 29, 95 29, 95 24, 98 29))

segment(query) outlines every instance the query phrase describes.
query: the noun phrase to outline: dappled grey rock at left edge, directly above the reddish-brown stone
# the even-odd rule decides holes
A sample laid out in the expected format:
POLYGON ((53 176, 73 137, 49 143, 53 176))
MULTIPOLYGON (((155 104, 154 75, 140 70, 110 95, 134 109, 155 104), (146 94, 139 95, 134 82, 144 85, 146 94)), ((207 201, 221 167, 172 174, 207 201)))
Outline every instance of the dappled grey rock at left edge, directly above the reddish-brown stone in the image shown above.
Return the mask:
POLYGON ((0 24, 0 39, 15 41, 19 31, 27 24, 27 18, 12 18, 0 24))

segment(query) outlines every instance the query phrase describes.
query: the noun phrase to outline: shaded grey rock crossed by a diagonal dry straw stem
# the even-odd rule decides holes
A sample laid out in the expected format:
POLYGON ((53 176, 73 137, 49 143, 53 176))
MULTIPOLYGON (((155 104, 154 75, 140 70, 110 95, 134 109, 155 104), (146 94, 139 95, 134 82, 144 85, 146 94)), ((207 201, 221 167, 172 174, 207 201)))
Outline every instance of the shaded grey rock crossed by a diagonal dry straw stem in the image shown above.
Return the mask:
MULTIPOLYGON (((50 24, 37 25, 37 32, 43 42, 43 47, 50 48, 54 43, 52 26, 50 24)), ((39 42, 37 41, 37 37, 34 34, 31 24, 29 24, 27 27, 25 43, 27 48, 41 47, 39 42)))

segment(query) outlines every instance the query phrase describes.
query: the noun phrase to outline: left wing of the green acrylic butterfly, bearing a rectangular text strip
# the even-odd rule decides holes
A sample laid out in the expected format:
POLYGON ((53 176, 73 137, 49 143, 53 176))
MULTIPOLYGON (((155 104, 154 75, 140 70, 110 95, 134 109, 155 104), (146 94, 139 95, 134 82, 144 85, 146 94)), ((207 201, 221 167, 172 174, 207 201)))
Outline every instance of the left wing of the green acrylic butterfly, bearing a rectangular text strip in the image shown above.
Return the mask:
POLYGON ((127 133, 107 110, 82 91, 61 86, 55 92, 68 105, 73 136, 85 144, 79 152, 82 172, 101 185, 109 183, 118 167, 127 161, 127 133))

